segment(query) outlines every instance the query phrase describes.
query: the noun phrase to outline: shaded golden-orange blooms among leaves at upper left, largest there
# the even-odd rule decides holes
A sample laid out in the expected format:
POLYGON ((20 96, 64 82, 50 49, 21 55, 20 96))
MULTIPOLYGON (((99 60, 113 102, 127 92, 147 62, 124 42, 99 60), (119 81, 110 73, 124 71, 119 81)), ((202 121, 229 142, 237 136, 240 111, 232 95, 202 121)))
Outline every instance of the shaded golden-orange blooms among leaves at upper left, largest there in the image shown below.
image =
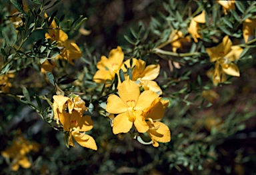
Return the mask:
MULTIPOLYGON (((45 18, 47 18, 46 13, 45 18)), ((49 25, 48 32, 45 33, 45 38, 57 41, 57 47, 61 49, 61 53, 55 59, 66 59, 73 65, 73 60, 82 57, 82 53, 75 41, 68 40, 67 34, 57 27, 55 20, 49 25)))

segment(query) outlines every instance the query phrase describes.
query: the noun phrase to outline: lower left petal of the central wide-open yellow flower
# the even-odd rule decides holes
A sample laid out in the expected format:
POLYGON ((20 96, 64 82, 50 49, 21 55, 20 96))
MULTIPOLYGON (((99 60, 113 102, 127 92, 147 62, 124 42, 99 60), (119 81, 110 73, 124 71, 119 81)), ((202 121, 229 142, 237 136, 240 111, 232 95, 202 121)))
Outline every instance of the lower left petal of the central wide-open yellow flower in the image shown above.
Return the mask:
POLYGON ((114 118, 113 122, 113 133, 119 134, 121 132, 126 133, 131 130, 133 126, 133 121, 130 121, 127 117, 127 113, 119 114, 114 118))

